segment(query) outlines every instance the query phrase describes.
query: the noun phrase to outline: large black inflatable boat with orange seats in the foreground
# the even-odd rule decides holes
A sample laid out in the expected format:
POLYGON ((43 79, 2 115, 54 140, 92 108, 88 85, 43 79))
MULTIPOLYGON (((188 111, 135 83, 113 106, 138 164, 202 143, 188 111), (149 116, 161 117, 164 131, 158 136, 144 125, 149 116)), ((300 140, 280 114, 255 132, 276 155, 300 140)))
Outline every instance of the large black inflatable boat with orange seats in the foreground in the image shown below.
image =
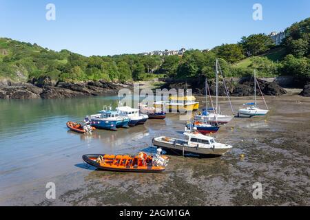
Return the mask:
POLYGON ((168 157, 161 155, 161 149, 154 156, 144 152, 136 156, 94 154, 83 155, 83 160, 101 170, 143 173, 163 172, 169 162, 168 157))

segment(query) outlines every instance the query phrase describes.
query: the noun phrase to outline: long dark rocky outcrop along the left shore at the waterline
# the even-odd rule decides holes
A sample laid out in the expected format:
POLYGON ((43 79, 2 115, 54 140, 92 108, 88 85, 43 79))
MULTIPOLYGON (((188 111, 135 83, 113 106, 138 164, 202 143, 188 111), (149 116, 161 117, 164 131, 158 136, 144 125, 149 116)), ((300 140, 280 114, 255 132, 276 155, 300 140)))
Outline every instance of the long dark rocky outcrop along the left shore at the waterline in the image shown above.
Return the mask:
POLYGON ((90 81, 87 83, 57 83, 54 85, 48 77, 32 80, 32 83, 1 86, 0 99, 52 99, 99 96, 104 94, 117 94, 119 89, 128 87, 128 85, 105 81, 90 81))

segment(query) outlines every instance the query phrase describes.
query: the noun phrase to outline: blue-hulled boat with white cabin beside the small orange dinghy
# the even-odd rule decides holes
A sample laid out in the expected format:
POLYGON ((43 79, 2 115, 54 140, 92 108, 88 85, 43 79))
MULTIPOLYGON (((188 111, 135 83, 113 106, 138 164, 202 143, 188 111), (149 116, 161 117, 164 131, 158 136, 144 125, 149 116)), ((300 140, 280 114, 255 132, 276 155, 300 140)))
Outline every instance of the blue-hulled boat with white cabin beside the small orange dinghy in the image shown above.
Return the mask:
POLYGON ((90 115, 87 118, 90 120, 92 126, 97 129, 108 129, 112 131, 116 131, 119 127, 127 128, 130 123, 129 117, 121 116, 118 111, 111 110, 99 111, 99 114, 90 115))

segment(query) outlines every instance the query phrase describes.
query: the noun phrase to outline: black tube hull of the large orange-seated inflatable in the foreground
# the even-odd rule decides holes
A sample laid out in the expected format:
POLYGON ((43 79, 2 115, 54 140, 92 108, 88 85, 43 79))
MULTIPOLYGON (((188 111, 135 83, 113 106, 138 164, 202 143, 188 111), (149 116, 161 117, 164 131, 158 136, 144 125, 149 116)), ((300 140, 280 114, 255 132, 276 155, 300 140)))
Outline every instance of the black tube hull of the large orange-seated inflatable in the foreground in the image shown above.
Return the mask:
POLYGON ((94 160, 90 159, 92 157, 97 158, 99 156, 105 156, 100 154, 93 154, 93 155, 83 155, 83 161, 91 166, 94 166, 100 170, 107 170, 107 171, 115 171, 115 172, 132 172, 132 173, 161 173, 165 170, 164 167, 156 168, 152 166, 148 166, 147 168, 126 168, 121 166, 113 166, 113 165, 106 165, 102 166, 101 164, 95 162, 94 160))

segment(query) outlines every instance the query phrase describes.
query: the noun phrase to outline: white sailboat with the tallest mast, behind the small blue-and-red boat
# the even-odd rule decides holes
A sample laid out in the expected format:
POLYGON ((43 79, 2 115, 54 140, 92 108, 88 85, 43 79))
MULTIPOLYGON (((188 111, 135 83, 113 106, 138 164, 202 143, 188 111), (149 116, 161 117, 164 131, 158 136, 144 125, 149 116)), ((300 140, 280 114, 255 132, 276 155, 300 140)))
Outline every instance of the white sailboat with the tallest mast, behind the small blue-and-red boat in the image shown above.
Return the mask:
MULTIPOLYGON (((216 123, 216 124, 227 124, 228 122, 230 122, 233 118, 234 115, 223 115, 220 113, 219 109, 220 106, 218 104, 218 67, 219 67, 219 63, 218 63, 218 59, 216 59, 216 108, 212 108, 212 109, 208 109, 207 108, 207 90, 208 89, 208 85, 207 85, 207 78, 205 80, 205 103, 206 103, 206 108, 203 111, 202 115, 195 115, 195 120, 199 120, 202 122, 211 122, 211 123, 216 123), (208 110, 214 111, 214 113, 209 113, 208 110)), ((225 82, 224 82, 225 83, 225 82)), ((226 86, 225 86, 226 89, 226 86)), ((226 89, 227 91, 227 89, 226 89)), ((227 91, 227 97, 229 99, 229 94, 227 91)), ((210 96, 211 98, 211 96, 210 96)), ((230 99, 229 99, 229 103, 231 105, 230 99)), ((234 113, 234 110, 231 107, 231 111, 234 113)))

